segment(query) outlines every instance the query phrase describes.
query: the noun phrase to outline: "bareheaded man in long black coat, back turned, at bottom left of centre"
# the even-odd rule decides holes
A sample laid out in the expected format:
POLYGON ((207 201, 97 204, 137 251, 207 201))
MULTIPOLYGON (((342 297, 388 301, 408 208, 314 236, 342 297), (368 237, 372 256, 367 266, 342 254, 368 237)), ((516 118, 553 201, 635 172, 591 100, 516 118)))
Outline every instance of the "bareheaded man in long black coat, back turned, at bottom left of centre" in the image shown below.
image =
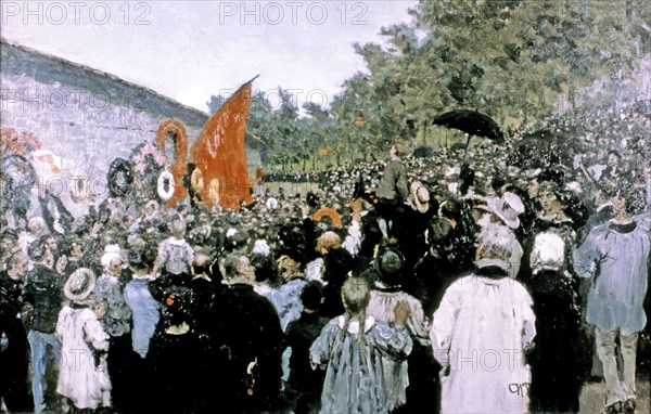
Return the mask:
POLYGON ((214 306, 215 407, 220 412, 273 412, 281 404, 280 318, 273 305, 253 289, 255 268, 239 251, 224 259, 228 285, 214 306))

